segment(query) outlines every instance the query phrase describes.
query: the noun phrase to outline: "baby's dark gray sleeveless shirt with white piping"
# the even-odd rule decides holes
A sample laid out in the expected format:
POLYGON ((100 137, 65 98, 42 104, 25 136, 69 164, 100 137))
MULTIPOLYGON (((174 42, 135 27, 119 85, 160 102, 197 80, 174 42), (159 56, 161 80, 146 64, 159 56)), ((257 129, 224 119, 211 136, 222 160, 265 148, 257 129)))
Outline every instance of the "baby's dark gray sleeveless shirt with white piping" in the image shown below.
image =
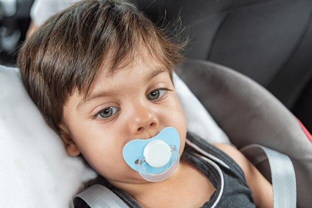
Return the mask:
MULTIPOLYGON (((202 208, 255 208, 252 192, 237 163, 202 138, 192 133, 187 133, 186 137, 181 159, 200 170, 216 188, 202 208)), ((114 187, 104 178, 99 183, 112 190, 130 208, 142 208, 129 194, 114 187)), ((84 202, 75 202, 75 205, 75 208, 89 207, 84 202)))

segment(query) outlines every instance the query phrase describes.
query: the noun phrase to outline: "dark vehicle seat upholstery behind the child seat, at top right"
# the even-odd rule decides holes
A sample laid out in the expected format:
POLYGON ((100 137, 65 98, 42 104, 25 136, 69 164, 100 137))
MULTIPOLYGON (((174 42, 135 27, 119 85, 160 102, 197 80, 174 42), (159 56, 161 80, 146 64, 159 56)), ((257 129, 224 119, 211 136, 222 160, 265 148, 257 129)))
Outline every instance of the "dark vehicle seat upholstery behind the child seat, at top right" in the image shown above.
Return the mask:
MULTIPOLYGON (((247 75, 291 110, 308 105, 298 99, 312 80, 311 0, 134 1, 155 22, 181 17, 192 38, 188 58, 247 75)), ((309 124, 311 107, 296 112, 309 124)))

